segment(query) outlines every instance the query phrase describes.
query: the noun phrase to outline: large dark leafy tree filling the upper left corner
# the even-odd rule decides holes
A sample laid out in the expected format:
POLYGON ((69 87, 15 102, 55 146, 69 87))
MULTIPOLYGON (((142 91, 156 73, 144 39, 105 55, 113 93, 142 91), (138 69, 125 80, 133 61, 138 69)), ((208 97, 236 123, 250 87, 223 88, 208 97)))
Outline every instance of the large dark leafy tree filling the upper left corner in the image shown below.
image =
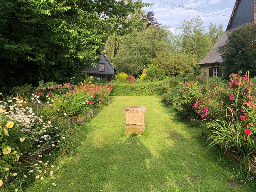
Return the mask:
POLYGON ((0 1, 0 90, 63 80, 95 63, 141 0, 0 1), (5 87, 4 87, 5 86, 5 87))

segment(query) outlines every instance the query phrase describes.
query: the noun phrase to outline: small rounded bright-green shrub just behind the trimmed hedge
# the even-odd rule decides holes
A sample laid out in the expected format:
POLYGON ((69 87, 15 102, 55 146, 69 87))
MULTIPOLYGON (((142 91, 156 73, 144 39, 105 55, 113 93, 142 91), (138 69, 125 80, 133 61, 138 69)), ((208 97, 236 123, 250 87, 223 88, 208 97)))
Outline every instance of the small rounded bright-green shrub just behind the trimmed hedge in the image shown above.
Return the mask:
POLYGON ((164 70, 159 68, 158 65, 149 65, 146 70, 146 76, 144 77, 145 80, 164 80, 165 73, 164 70))

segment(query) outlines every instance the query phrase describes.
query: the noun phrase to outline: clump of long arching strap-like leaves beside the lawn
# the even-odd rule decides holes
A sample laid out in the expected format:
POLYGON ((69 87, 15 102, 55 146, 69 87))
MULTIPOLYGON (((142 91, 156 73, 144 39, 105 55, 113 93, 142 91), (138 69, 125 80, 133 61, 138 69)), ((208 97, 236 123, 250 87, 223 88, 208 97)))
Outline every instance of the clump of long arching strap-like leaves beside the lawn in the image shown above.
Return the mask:
MULTIPOLYGON (((230 108, 227 108, 227 111, 230 111, 230 108)), ((252 113, 254 112, 255 109, 252 110, 252 113)), ((208 148, 219 144, 225 150, 235 151, 244 159, 244 168, 250 171, 251 159, 256 155, 255 133, 246 132, 249 130, 244 126, 244 121, 240 120, 240 109, 230 113, 231 115, 219 117, 208 123, 208 148)))

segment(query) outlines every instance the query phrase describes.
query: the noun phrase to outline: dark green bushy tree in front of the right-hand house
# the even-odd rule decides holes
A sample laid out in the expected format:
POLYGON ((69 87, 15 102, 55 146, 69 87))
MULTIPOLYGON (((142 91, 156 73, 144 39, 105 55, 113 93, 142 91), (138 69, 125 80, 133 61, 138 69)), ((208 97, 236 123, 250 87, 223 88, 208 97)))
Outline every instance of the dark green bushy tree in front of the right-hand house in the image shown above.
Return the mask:
POLYGON ((250 70, 256 75, 256 24, 244 24, 228 34, 226 44, 218 49, 224 60, 222 72, 226 78, 229 74, 250 70))

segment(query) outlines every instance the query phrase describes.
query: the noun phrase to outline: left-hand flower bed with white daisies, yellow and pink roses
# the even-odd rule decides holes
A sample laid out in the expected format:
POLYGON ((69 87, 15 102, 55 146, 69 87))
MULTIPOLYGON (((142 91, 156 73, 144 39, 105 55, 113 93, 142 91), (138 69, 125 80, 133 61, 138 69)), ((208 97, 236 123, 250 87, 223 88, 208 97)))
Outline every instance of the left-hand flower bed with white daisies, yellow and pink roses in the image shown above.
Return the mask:
POLYGON ((52 153, 75 153, 79 127, 70 119, 105 104, 112 88, 91 82, 76 86, 48 82, 20 89, 16 97, 0 93, 0 188, 12 179, 21 184, 53 179, 57 168, 51 164, 52 153))

